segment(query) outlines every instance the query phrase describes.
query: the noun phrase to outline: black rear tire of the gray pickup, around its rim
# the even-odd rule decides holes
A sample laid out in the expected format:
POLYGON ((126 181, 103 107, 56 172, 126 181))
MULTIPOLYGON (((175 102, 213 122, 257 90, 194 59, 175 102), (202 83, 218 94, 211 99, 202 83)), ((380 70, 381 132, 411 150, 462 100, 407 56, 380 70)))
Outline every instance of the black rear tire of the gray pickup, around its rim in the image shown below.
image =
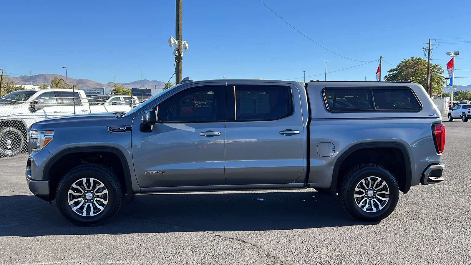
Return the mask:
MULTIPOLYGON (((371 185, 371 184, 370 184, 371 185)), ((370 163, 365 163, 365 164, 360 164, 357 166, 354 166, 350 168, 344 175, 342 179, 342 184, 341 184, 341 189, 340 189, 340 198, 342 201, 342 207, 353 217, 357 218, 360 221, 365 221, 365 222, 376 222, 380 221, 388 215, 392 213, 396 205, 398 204, 398 199, 399 199, 399 187, 398 187, 398 182, 394 178, 394 176, 384 167, 378 166, 375 164, 370 164, 370 163), (386 185, 382 184, 381 189, 373 189, 371 190, 372 195, 367 195, 367 192, 369 191, 365 189, 366 191, 364 192, 365 196, 360 197, 358 196, 355 197, 356 194, 362 193, 362 191, 355 191, 357 188, 357 185, 361 187, 366 187, 362 185, 362 181, 366 180, 363 182, 363 184, 368 184, 368 178, 371 177, 370 183, 373 183, 376 185, 376 187, 379 187, 382 182, 385 182, 386 185), (382 182, 378 182, 380 178, 382 182), (384 191, 386 189, 389 191, 389 195, 387 195, 384 191), (380 191, 378 191, 380 190, 380 191), (376 194, 380 194, 381 196, 376 194), (373 197, 374 196, 374 197, 373 197), (379 207, 381 204, 377 203, 379 201, 384 202, 384 200, 380 198, 387 198, 388 200, 382 207, 379 207), (363 201, 366 199, 367 201, 365 202, 365 210, 360 208, 360 206, 357 205, 359 201, 363 201), (376 202, 374 202, 376 200, 376 202), (371 209, 367 208, 368 203, 371 201, 371 209), (374 207, 376 205, 376 207, 374 207), (379 209, 375 209, 379 208, 379 209), (376 210, 376 211, 374 211, 376 210)), ((363 207, 363 204, 361 205, 363 207)))

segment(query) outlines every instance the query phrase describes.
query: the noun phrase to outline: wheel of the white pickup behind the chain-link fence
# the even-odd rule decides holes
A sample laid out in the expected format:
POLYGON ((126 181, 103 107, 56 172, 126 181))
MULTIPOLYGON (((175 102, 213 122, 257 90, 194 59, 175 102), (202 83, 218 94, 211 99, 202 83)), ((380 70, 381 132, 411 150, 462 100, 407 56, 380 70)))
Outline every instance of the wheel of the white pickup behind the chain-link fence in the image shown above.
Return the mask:
POLYGON ((0 129, 0 157, 14 157, 24 149, 23 133, 13 127, 0 129))

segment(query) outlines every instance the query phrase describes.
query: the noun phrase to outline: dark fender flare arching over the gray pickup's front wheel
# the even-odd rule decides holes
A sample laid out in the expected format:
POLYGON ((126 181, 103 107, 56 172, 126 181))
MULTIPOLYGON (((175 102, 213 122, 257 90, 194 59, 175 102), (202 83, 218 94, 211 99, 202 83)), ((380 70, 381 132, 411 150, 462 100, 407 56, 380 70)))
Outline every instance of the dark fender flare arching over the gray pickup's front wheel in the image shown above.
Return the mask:
POLYGON ((121 165, 123 167, 124 182, 125 182, 124 184, 126 185, 125 190, 126 190, 127 202, 130 203, 134 199, 135 194, 132 191, 131 173, 130 173, 128 162, 126 160, 126 157, 122 153, 122 151, 115 147, 89 146, 89 147, 73 147, 73 148, 64 149, 60 151, 59 153, 57 153, 57 155, 55 155, 51 160, 49 160, 46 163, 46 166, 44 166, 44 170, 43 170, 43 176, 47 177, 47 180, 49 180, 49 173, 54 163, 56 163, 60 158, 64 157, 65 155, 73 154, 73 153, 82 153, 82 152, 109 152, 109 153, 115 154, 120 159, 121 165))

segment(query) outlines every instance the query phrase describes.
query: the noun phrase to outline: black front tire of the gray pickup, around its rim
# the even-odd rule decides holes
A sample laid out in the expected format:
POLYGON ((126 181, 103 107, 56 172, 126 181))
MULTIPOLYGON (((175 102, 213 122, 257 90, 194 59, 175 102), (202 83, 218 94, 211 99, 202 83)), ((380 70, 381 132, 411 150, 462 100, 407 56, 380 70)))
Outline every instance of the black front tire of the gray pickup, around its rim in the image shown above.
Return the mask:
POLYGON ((118 181, 116 174, 110 168, 99 164, 86 164, 73 168, 65 174, 56 190, 56 204, 61 214, 69 222, 81 226, 103 224, 109 221, 121 208, 122 198, 121 183, 118 181), (85 183, 82 181, 84 178, 85 183), (98 188, 101 186, 99 182, 104 184, 102 188, 98 188), (74 188, 73 184, 81 189, 74 188), (83 190, 83 195, 69 194, 69 189, 76 193, 81 193, 80 190, 83 190), (95 193, 106 194, 93 195, 95 193), (90 199, 88 199, 89 197, 90 199), (74 199, 78 201, 69 205, 69 200, 74 199), (87 199, 87 202, 85 202, 85 199, 87 199), (107 204, 105 204, 105 200, 107 204), (73 210, 73 206, 77 207, 77 205, 83 204, 85 204, 83 210, 81 210, 81 207, 73 210), (103 209, 98 207, 103 207, 103 209), (90 211, 88 212, 88 210, 90 211), (92 210, 93 215, 91 214, 92 210), (81 215, 83 212, 86 216, 81 215))

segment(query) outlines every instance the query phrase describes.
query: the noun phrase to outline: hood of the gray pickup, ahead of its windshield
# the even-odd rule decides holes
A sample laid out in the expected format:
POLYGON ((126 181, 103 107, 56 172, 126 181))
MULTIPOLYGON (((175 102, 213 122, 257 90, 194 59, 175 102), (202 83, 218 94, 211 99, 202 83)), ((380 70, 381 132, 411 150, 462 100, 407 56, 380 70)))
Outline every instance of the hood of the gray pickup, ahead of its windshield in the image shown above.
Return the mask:
POLYGON ((64 126, 64 124, 72 123, 73 126, 77 126, 80 123, 83 126, 88 126, 89 124, 103 124, 103 125, 119 125, 119 126, 130 126, 132 122, 131 117, 122 117, 117 118, 111 112, 107 113, 94 113, 94 114, 82 114, 82 115, 70 115, 57 118, 49 118, 42 120, 40 122, 34 123, 31 125, 32 130, 38 130, 40 127, 54 127, 54 124, 57 126, 64 126))

